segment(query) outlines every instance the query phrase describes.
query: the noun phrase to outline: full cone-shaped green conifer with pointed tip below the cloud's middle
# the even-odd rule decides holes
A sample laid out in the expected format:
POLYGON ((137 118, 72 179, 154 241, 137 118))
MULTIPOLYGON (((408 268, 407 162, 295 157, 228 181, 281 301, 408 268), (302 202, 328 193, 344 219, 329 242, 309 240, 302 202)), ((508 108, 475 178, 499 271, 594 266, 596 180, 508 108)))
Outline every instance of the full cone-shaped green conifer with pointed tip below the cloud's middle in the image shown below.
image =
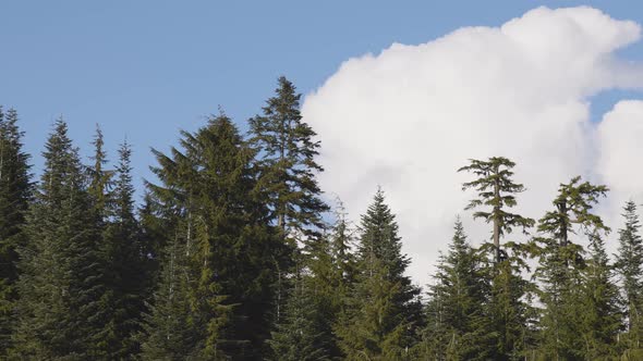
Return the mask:
POLYGON ((359 275, 344 320, 338 325, 348 360, 403 360, 422 325, 418 288, 404 275, 409 258, 401 252, 395 215, 379 189, 362 216, 359 275))

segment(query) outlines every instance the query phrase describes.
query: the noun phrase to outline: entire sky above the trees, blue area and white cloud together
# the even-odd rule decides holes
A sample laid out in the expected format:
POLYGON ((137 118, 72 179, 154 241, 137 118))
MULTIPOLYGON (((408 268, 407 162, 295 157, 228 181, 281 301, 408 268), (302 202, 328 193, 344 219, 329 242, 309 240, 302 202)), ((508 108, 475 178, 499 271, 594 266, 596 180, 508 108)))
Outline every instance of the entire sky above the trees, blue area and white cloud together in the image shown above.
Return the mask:
POLYGON ((167 150, 219 105, 244 129, 286 75, 319 134, 328 199, 342 198, 357 220, 381 185, 410 274, 425 284, 457 214, 472 241, 488 236, 463 211, 468 177, 454 170, 469 158, 514 159, 527 216, 539 217, 557 184, 577 174, 612 189, 599 212, 615 228, 624 199, 643 202, 643 174, 630 165, 643 150, 642 10, 631 1, 3 1, 0 104, 19 111, 36 172, 63 116, 84 154, 96 124, 112 158, 126 137, 141 190, 149 148, 167 150))

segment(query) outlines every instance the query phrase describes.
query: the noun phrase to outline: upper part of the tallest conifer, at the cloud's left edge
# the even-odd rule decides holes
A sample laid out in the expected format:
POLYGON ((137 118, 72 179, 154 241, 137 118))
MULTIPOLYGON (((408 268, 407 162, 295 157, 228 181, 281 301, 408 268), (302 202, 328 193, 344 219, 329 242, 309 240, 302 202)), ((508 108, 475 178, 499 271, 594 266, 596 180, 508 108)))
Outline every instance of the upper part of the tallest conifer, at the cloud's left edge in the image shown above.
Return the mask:
POLYGON ((251 142, 263 154, 262 186, 269 192, 272 217, 283 236, 303 233, 315 237, 324 227, 320 214, 328 210, 315 178, 323 171, 315 161, 319 142, 302 121, 301 94, 283 76, 278 83, 263 115, 250 120, 251 142))

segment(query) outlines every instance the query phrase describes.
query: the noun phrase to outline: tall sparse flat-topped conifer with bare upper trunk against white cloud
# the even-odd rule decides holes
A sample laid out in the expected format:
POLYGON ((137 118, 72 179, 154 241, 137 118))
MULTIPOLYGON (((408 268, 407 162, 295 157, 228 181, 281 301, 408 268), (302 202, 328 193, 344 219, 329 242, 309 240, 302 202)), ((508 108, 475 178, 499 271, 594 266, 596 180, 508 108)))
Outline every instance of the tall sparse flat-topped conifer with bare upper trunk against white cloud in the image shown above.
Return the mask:
POLYGON ((507 158, 493 157, 486 161, 470 160, 470 164, 458 172, 471 172, 477 176, 472 182, 464 183, 462 189, 473 188, 477 198, 470 201, 468 210, 487 207, 487 210, 473 213, 474 219, 483 219, 493 224, 493 245, 484 245, 482 250, 493 249, 494 265, 488 267, 488 279, 492 281, 488 312, 494 323, 496 347, 493 351, 495 360, 510 360, 521 357, 530 332, 527 319, 530 306, 524 301, 532 286, 521 277, 526 269, 523 245, 506 242, 509 252, 501 249, 500 239, 510 234, 513 228, 522 228, 524 234, 534 225, 534 220, 517 213, 510 213, 508 208, 517 206, 515 194, 525 190, 522 184, 512 180, 511 171, 515 163, 507 158), (490 247, 489 247, 490 246, 490 247))

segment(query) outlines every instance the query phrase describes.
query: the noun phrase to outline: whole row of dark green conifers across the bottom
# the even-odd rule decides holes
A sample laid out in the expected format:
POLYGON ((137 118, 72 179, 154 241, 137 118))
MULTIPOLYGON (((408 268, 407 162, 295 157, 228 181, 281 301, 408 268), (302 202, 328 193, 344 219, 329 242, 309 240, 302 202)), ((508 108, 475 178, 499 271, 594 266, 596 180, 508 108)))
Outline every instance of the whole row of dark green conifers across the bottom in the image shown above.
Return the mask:
POLYGON ((129 144, 112 164, 97 129, 83 162, 58 120, 36 180, 0 109, 0 359, 643 359, 634 202, 612 262, 606 186, 561 184, 536 221, 511 213, 513 162, 471 160, 492 237, 473 246, 458 219, 423 292, 380 189, 356 225, 323 200, 300 99, 281 77, 246 135, 220 112, 153 150, 139 204, 129 144))

